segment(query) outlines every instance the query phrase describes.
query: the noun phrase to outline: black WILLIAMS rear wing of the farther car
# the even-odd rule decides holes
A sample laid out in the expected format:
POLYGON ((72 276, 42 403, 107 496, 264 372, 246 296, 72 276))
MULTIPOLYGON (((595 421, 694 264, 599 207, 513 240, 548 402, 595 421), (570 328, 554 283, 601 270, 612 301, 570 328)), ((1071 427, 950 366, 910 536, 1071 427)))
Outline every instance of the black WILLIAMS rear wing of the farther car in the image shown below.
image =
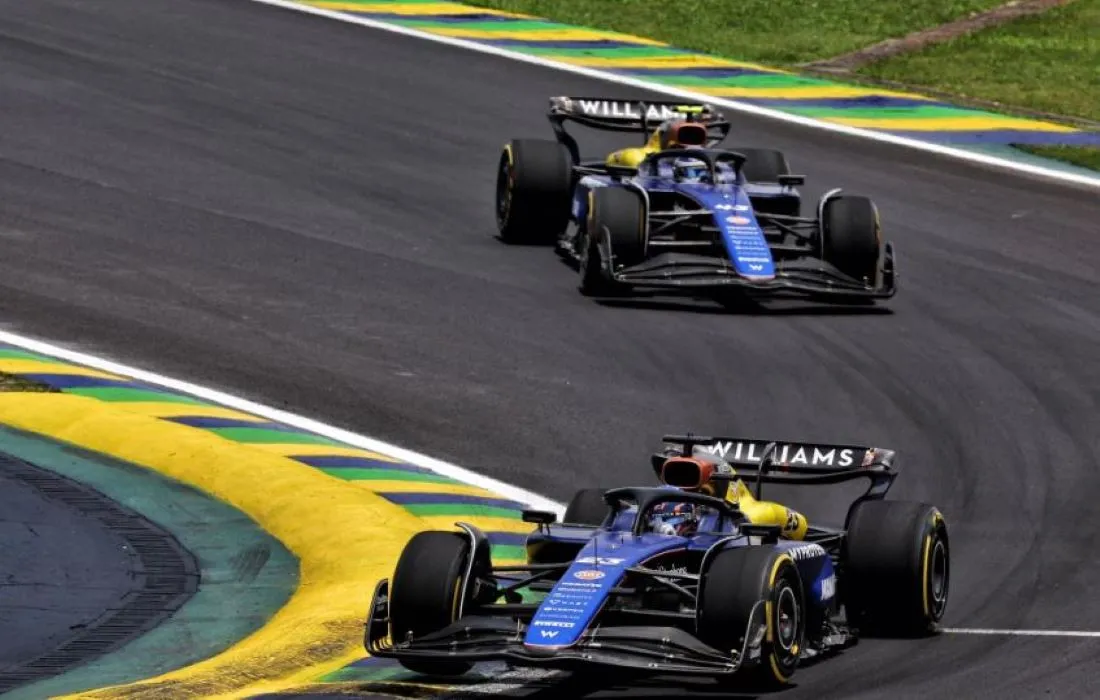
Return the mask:
POLYGON ((579 163, 581 157, 576 141, 565 132, 566 121, 602 131, 637 132, 642 136, 642 144, 649 140, 651 129, 670 119, 689 119, 705 125, 711 134, 708 146, 722 142, 730 129, 726 117, 712 105, 671 100, 559 96, 550 98, 547 118, 559 141, 572 153, 574 163, 579 163))

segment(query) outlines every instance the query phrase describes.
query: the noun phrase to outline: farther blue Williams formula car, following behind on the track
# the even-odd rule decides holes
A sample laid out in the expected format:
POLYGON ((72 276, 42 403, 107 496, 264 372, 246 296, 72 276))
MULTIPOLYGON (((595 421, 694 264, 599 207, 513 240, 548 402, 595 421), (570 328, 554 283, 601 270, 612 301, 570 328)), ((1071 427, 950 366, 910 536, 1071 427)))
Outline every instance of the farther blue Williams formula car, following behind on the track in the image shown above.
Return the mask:
POLYGON ((802 217, 795 186, 805 178, 779 151, 716 149, 730 125, 710 105, 554 97, 548 118, 554 140, 504 146, 497 228, 506 242, 554 242, 579 267, 582 293, 894 295, 893 245, 875 204, 833 189, 816 217, 802 217), (585 161, 570 121, 646 142, 585 161))

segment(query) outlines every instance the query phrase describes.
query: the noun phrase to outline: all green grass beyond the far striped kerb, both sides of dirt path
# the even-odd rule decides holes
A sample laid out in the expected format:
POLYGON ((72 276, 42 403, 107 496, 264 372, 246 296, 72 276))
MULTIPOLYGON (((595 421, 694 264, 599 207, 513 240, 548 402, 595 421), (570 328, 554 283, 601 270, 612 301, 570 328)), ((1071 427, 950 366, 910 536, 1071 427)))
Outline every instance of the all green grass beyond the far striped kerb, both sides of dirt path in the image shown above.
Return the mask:
MULTIPOLYGON (((928 29, 1003 0, 466 0, 559 22, 653 37, 730 58, 794 67, 928 29), (783 28, 780 30, 779 28, 783 28)), ((1077 0, 864 66, 856 76, 1100 122, 1100 0, 1077 0)), ((897 86, 894 89, 898 89, 897 86)), ((1100 169, 1100 149, 1021 146, 1100 169)))

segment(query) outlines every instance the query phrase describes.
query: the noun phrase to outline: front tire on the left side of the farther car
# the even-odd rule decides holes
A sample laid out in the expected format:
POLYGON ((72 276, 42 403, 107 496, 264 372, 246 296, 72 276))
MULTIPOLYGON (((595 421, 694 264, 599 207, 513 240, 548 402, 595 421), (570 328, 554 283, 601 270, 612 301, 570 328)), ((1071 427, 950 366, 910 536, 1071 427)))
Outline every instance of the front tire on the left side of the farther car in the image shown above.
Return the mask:
POLYGON ((612 296, 623 285, 610 277, 601 243, 609 247, 612 265, 636 265, 646 259, 648 221, 645 205, 636 193, 624 187, 588 190, 588 216, 580 240, 581 293, 612 296))

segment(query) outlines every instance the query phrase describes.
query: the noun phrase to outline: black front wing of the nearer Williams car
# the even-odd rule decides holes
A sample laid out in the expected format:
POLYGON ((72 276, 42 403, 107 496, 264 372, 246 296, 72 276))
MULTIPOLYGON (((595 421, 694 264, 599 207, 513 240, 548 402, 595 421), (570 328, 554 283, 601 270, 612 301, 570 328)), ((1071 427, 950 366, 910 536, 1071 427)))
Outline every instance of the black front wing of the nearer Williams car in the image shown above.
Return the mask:
POLYGON ((505 616, 468 616, 418 639, 389 639, 389 582, 375 589, 364 646, 372 656, 419 661, 509 661, 575 670, 607 666, 660 675, 726 676, 760 658, 767 633, 763 601, 757 603, 740 649, 722 650, 671 626, 596 626, 570 647, 527 646, 526 625, 505 616))

